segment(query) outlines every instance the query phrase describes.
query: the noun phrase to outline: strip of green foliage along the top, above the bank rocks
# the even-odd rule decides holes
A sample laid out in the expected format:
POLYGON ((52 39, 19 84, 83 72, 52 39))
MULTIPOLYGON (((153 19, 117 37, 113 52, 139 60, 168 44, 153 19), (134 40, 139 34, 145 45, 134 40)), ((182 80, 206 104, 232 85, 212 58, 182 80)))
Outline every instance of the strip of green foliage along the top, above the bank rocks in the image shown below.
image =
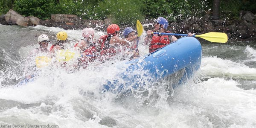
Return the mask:
MULTIPOLYGON (((256 13, 255 0, 221 0, 221 18, 238 18, 241 10, 256 13)), ((25 16, 47 19, 51 14, 73 14, 82 19, 110 18, 119 25, 135 25, 136 20, 166 17, 182 22, 188 17, 210 14, 213 0, 0 0, 0 14, 9 9, 25 16)))

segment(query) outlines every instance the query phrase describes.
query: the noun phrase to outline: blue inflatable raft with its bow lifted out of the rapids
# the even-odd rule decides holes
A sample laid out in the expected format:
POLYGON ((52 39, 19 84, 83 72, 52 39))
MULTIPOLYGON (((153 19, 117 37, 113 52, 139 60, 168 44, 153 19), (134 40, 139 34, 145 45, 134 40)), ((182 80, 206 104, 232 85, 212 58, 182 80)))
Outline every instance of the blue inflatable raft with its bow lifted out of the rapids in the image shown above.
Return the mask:
POLYGON ((151 83, 167 79, 175 88, 199 69, 201 49, 196 38, 180 38, 143 58, 129 61, 126 71, 116 76, 119 79, 107 81, 102 91, 143 91, 152 87, 151 83))

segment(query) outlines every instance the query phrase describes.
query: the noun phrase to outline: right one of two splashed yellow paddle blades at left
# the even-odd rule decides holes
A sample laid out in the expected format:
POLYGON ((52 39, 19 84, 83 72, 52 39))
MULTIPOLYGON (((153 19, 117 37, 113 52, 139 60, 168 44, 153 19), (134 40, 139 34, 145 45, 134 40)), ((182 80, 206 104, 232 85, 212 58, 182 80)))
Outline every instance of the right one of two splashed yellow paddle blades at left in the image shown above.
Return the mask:
POLYGON ((70 61, 72 58, 74 58, 75 52, 72 52, 68 49, 66 50, 58 50, 57 52, 57 59, 58 61, 70 61))

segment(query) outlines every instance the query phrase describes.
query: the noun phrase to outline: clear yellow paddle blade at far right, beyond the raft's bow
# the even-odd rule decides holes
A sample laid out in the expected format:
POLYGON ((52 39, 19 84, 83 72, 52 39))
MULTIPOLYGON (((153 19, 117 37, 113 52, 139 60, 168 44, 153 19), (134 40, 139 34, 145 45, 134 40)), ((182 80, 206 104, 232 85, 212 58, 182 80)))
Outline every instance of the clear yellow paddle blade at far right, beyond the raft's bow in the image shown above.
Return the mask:
POLYGON ((227 42, 227 34, 221 33, 221 32, 208 32, 202 35, 195 35, 195 37, 200 37, 207 41, 216 42, 216 43, 227 42))

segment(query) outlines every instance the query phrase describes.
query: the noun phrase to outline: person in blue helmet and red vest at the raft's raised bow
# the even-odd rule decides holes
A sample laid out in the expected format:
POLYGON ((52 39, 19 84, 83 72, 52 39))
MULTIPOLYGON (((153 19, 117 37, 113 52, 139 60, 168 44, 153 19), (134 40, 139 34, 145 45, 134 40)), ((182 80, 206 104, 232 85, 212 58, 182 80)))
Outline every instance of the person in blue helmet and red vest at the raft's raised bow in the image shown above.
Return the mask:
MULTIPOLYGON (((157 20, 154 21, 153 25, 154 30, 148 30, 147 37, 144 39, 144 44, 149 45, 148 48, 150 53, 170 44, 173 41, 177 41, 177 38, 174 35, 152 34, 152 32, 172 33, 167 31, 169 23, 164 17, 158 17, 157 20)), ((193 36, 193 34, 189 33, 188 36, 193 36)))

